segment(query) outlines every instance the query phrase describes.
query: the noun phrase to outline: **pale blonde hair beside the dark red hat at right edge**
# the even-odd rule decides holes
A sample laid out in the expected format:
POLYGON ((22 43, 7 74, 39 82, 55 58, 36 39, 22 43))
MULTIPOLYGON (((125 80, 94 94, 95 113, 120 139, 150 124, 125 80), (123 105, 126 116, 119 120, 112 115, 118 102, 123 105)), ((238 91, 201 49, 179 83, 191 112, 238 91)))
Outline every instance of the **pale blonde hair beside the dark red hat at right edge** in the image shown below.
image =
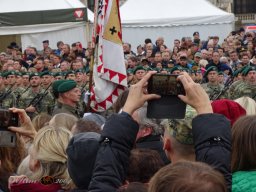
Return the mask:
POLYGON ((252 98, 244 96, 236 99, 235 102, 246 110, 246 115, 256 115, 256 102, 252 98))

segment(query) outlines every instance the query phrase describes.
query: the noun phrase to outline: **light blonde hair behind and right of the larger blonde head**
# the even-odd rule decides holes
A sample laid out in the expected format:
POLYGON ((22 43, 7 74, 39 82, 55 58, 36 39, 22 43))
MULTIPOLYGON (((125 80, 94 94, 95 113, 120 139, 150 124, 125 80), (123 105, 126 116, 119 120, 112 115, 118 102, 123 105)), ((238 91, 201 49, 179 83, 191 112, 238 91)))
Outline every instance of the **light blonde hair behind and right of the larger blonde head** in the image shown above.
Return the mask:
POLYGON ((71 130, 77 121, 78 119, 74 115, 59 113, 53 116, 49 122, 49 125, 55 128, 64 127, 68 130, 71 130))

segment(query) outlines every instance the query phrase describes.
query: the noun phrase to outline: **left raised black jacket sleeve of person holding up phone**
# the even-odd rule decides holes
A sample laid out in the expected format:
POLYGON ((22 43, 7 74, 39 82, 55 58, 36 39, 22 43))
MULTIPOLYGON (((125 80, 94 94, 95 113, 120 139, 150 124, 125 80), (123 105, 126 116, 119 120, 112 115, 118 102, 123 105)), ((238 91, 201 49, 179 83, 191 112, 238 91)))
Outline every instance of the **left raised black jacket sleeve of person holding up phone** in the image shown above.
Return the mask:
POLYGON ((89 191, 116 191, 126 178, 139 125, 125 112, 114 114, 105 123, 89 191))

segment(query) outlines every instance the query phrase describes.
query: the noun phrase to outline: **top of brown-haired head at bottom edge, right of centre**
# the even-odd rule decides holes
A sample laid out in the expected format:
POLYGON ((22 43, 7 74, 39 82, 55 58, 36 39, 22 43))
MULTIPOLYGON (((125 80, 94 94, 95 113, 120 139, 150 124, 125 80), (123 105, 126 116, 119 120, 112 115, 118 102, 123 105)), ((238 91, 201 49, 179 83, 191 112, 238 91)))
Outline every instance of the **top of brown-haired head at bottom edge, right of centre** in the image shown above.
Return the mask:
POLYGON ((226 192, 223 175, 201 162, 179 161, 160 169, 149 183, 149 192, 226 192))

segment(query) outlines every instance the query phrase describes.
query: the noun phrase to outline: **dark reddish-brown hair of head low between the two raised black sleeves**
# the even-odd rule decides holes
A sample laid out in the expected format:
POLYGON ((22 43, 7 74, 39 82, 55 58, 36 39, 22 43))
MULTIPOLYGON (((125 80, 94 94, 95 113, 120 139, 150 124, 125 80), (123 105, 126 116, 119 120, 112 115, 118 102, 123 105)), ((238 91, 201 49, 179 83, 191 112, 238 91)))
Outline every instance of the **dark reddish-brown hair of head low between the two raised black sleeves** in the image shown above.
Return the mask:
POLYGON ((151 149, 133 149, 126 179, 129 182, 147 183, 164 166, 159 153, 151 149))

